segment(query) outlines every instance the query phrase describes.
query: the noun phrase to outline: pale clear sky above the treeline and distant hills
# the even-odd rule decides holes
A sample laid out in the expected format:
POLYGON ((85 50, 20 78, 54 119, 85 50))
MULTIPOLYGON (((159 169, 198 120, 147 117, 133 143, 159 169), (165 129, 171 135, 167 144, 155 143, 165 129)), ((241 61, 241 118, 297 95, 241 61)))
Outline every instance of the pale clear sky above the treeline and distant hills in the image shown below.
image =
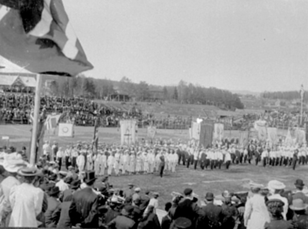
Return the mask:
POLYGON ((307 0, 63 0, 86 76, 227 90, 308 89, 307 0))

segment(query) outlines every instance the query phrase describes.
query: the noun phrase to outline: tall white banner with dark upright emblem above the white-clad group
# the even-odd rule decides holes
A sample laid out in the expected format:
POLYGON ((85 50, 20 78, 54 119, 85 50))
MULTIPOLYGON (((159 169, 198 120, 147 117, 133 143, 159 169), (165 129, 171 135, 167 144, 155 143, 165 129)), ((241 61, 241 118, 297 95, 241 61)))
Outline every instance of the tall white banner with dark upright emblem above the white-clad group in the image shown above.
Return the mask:
POLYGON ((136 142, 136 120, 121 120, 121 145, 132 145, 136 142))

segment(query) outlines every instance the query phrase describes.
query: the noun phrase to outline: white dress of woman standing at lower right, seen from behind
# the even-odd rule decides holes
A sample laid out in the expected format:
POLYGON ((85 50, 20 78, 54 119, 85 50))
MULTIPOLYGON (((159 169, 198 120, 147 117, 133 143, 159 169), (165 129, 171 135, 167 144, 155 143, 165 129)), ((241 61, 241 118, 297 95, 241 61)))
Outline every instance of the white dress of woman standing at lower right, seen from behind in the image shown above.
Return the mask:
POLYGON ((244 222, 247 229, 264 229, 264 224, 270 222, 270 215, 265 205, 265 198, 254 194, 245 204, 244 222))

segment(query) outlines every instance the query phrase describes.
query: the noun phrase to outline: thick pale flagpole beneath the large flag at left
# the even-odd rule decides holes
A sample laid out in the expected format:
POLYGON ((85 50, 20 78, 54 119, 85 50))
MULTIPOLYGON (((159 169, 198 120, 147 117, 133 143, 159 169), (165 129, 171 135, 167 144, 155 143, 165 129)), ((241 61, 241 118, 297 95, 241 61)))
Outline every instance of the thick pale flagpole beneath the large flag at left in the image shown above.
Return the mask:
POLYGON ((35 87, 35 100, 34 100, 34 117, 31 137, 31 151, 30 151, 30 164, 35 165, 35 153, 37 144, 37 132, 39 125, 39 109, 41 106, 40 93, 41 93, 42 76, 36 75, 36 87, 35 87))

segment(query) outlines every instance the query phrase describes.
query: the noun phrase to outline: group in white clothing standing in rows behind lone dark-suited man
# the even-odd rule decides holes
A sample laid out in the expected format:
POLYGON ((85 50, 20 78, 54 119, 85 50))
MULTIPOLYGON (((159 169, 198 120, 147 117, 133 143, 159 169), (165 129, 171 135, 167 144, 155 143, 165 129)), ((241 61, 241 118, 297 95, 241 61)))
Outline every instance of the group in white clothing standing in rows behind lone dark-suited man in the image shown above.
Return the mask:
MULTIPOLYGON (((80 147, 75 150, 69 147, 65 153, 72 157, 72 152, 77 152, 75 164, 66 160, 66 167, 72 165, 83 170, 94 170, 95 174, 103 175, 125 175, 154 173, 159 170, 161 157, 164 157, 164 170, 175 172, 178 162, 178 154, 175 147, 153 146, 153 147, 131 147, 123 148, 116 146, 112 148, 99 148, 97 153, 87 148, 80 147)), ((63 157, 57 157, 58 164, 62 162, 63 157)))

